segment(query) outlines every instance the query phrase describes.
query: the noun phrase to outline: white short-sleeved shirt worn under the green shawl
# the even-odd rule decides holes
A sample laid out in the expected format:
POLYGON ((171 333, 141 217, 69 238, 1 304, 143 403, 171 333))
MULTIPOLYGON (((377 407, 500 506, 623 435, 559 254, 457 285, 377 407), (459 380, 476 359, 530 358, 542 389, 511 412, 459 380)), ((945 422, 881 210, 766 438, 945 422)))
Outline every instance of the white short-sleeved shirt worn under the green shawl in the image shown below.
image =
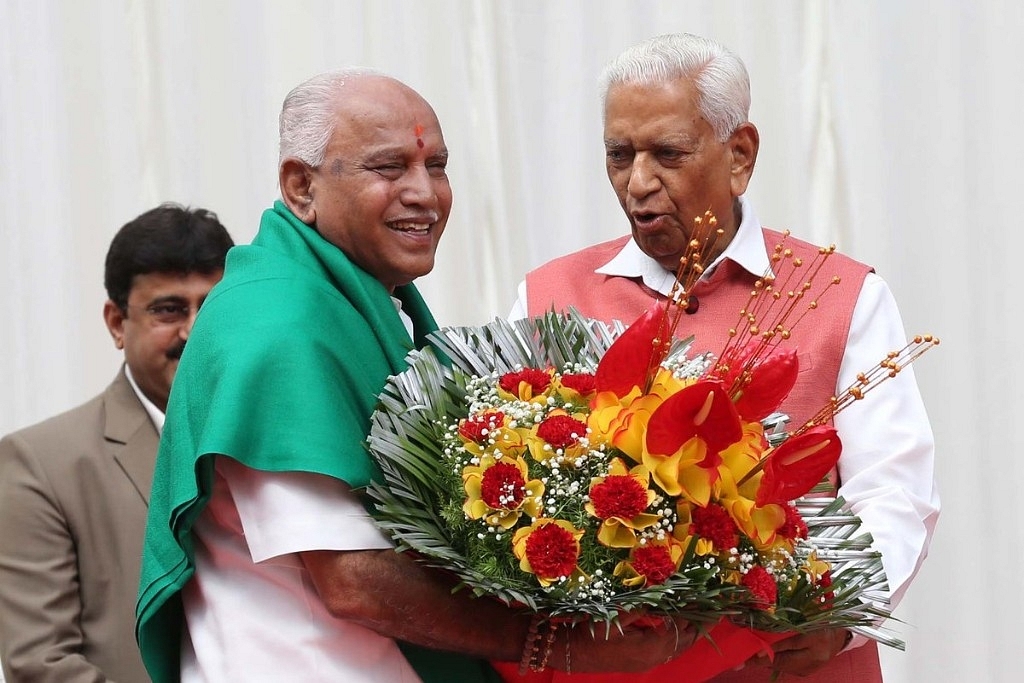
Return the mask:
POLYGON ((395 641, 332 616, 298 553, 391 548, 348 486, 218 457, 182 598, 182 683, 416 683, 395 641))

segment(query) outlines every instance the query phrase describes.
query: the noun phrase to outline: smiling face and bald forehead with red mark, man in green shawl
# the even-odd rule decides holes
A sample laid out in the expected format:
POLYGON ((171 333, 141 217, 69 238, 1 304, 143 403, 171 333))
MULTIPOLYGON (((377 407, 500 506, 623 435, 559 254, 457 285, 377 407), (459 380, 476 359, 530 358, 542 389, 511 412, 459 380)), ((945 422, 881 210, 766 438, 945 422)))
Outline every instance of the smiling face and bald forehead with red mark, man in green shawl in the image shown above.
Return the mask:
POLYGON ((352 79, 337 101, 323 165, 285 160, 283 194, 303 222, 393 291, 433 268, 452 210, 447 147, 430 105, 397 81, 352 79))

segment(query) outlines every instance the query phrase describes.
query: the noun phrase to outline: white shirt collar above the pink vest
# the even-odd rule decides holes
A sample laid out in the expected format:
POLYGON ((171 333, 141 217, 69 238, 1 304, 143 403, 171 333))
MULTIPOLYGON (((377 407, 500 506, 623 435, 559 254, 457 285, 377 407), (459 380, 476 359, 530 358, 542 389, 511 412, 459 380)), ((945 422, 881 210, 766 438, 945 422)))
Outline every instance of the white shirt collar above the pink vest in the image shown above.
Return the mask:
MULTIPOLYGON (((761 233, 761 221, 754 214, 745 196, 739 198, 740 222, 736 234, 725 251, 707 268, 701 280, 707 280, 715 268, 725 259, 730 259, 743 269, 760 278, 769 271, 768 254, 765 252, 764 237, 761 233)), ((626 243, 610 261, 597 268, 595 272, 620 278, 639 278, 648 288, 668 296, 672 285, 676 282, 676 273, 666 270, 662 265, 647 256, 637 246, 635 240, 626 243)))

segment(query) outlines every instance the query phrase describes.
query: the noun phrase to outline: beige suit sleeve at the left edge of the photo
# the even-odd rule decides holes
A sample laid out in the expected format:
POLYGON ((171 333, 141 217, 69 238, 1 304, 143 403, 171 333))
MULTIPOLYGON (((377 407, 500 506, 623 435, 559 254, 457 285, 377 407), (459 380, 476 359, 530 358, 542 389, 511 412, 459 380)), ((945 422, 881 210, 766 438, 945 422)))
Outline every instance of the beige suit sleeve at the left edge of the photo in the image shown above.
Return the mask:
POLYGON ((100 683, 86 660, 76 544, 49 477, 17 434, 0 440, 0 660, 9 681, 100 683))

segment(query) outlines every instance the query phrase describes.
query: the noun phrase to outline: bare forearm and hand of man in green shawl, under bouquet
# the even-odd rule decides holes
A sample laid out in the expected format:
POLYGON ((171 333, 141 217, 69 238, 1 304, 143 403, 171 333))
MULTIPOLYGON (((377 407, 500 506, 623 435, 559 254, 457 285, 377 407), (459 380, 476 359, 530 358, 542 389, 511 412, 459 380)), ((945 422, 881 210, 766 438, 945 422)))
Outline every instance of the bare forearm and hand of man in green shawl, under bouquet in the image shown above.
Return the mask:
MULTIPOLYGON (((381 635, 433 649, 519 661, 529 614, 497 600, 452 592, 452 580, 393 550, 300 554, 327 610, 381 635)), ((560 627, 547 666, 577 672, 635 673, 683 651, 696 629, 676 617, 623 614, 622 631, 560 627)))

